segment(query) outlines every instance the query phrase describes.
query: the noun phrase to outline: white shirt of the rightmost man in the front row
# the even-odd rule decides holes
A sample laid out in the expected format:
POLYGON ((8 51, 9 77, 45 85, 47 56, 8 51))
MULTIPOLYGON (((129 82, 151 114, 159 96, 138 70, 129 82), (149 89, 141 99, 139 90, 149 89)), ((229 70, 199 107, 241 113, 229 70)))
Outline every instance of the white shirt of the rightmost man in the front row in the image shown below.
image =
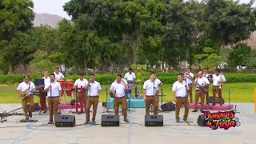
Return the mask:
POLYGON ((176 92, 176 97, 185 98, 187 90, 190 90, 188 84, 185 81, 174 82, 172 91, 176 92))

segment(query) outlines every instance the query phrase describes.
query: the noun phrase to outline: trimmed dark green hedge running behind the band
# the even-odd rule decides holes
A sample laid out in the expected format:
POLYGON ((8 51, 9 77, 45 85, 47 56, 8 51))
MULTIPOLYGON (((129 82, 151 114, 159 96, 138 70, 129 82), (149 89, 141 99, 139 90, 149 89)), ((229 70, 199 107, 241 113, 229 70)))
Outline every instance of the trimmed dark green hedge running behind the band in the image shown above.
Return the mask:
MULTIPOLYGON (((163 84, 172 84, 177 81, 178 73, 158 73, 158 78, 163 84)), ((42 74, 29 74, 30 81, 34 82, 35 78, 42 78, 42 74)), ((122 74, 124 75, 124 74, 122 74)), ((110 84, 114 82, 116 74, 95 74, 96 80, 103 84, 110 84)), ((150 74, 146 73, 136 73, 137 79, 144 82, 146 79, 150 78, 150 74)), ((78 79, 78 75, 66 75, 66 79, 72 79, 75 81, 78 79)), ((89 76, 85 76, 86 79, 89 76)), ((229 83, 235 82, 256 82, 256 74, 225 74, 225 78, 229 83)), ((0 74, 0 84, 14 85, 22 82, 22 74, 0 74)))

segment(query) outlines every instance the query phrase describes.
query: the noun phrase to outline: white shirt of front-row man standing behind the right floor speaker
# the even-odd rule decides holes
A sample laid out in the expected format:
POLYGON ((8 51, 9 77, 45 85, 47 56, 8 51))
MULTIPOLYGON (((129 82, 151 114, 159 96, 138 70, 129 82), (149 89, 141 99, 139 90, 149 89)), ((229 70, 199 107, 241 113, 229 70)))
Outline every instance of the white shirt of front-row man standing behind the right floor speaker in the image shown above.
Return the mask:
POLYGON ((146 90, 146 96, 155 96, 156 91, 158 91, 158 83, 151 82, 150 79, 146 80, 143 85, 143 90, 146 90))

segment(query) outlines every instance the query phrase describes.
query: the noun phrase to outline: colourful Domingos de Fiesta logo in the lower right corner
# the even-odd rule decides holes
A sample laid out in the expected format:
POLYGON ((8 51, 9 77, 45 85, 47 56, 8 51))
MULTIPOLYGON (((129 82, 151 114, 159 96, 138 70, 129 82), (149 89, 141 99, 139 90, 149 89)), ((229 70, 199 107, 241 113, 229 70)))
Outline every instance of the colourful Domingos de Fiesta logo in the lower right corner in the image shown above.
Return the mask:
POLYGON ((212 130, 218 128, 228 130, 230 127, 240 126, 238 118, 234 118, 234 110, 218 113, 210 113, 210 111, 203 111, 204 122, 206 126, 209 126, 212 130))

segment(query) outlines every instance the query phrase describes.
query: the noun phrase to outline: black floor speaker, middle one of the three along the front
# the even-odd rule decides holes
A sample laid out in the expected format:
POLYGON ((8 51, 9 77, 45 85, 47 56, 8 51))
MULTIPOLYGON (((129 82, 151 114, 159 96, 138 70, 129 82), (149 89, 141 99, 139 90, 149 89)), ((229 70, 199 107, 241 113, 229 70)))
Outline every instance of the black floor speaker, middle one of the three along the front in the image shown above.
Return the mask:
POLYGON ((102 114, 102 126, 119 126, 119 115, 102 114))

